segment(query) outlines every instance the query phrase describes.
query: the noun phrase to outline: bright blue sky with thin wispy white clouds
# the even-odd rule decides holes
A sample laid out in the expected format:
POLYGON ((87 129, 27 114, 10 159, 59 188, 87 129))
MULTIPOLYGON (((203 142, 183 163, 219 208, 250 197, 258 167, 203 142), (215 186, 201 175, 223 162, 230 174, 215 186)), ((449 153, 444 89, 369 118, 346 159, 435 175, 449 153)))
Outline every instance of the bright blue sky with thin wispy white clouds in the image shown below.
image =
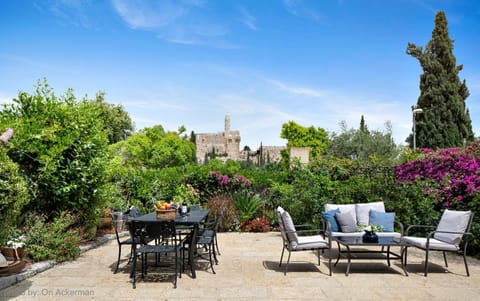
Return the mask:
POLYGON ((418 61, 446 12, 480 135, 476 0, 0 0, 0 102, 47 78, 57 95, 106 93, 141 129, 223 131, 285 145, 283 123, 411 132, 418 61))

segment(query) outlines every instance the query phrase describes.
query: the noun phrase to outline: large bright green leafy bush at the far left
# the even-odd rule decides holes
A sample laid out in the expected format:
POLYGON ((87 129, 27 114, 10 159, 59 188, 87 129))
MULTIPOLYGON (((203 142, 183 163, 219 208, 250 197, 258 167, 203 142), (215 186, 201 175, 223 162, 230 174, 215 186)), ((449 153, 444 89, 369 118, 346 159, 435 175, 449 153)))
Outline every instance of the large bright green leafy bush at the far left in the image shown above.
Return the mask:
POLYGON ((72 90, 57 97, 46 81, 33 94, 20 92, 0 112, 15 136, 8 155, 19 164, 41 212, 75 208, 93 212, 104 183, 106 135, 97 108, 72 90))

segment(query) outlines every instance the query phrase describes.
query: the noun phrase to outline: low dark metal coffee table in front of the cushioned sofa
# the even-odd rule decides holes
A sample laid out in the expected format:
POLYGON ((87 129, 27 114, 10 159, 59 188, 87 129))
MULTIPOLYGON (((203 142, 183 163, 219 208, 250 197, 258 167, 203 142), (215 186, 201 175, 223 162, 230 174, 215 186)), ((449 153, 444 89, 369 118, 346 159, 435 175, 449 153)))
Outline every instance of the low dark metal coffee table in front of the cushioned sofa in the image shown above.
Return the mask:
MULTIPOLYGON (((405 244, 401 242, 401 240, 397 237, 394 238, 393 236, 379 236, 378 242, 363 242, 362 237, 352 237, 352 236, 332 236, 333 241, 337 242, 338 245, 338 256, 337 261, 333 266, 336 266, 340 257, 344 254, 347 255, 347 270, 345 275, 348 276, 350 272, 350 264, 352 261, 352 254, 354 253, 363 253, 363 254, 384 254, 386 255, 387 264, 390 266, 390 258, 392 259, 399 259, 401 261, 401 266, 405 276, 408 276, 407 271, 405 270, 404 265, 404 246, 405 244), (342 250, 342 246, 345 247, 346 250, 342 250), (381 250, 372 250, 371 248, 363 248, 361 250, 352 250, 352 247, 381 247, 381 250), (391 247, 400 247, 400 254, 394 253, 391 251, 391 247), (385 250, 386 248, 386 250, 385 250)), ((384 256, 368 258, 368 259, 385 259, 384 256)))

